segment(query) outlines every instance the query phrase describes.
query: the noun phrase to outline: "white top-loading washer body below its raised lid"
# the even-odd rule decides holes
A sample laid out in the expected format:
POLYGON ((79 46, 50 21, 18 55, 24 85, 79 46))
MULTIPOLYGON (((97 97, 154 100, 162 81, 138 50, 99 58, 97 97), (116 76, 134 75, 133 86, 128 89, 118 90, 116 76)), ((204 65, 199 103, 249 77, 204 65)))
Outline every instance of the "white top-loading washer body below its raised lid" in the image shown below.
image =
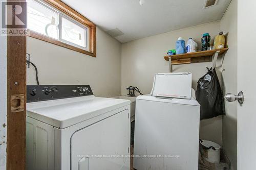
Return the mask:
POLYGON ((152 95, 136 99, 134 168, 197 170, 200 105, 152 95))

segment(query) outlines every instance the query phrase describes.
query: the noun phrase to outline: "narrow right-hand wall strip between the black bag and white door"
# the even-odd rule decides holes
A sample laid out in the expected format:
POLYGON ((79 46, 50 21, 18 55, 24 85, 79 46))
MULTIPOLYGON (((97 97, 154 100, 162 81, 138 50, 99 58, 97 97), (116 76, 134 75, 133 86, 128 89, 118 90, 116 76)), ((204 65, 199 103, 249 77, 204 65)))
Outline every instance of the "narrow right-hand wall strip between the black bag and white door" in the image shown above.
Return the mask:
MULTIPOLYGON (((223 93, 237 94, 237 60, 238 60, 238 18, 237 0, 229 5, 221 20, 221 30, 228 33, 227 51, 223 60, 222 74, 223 93)), ((231 161, 232 169, 237 169, 237 102, 225 102, 226 116, 222 117, 223 149, 231 161)))

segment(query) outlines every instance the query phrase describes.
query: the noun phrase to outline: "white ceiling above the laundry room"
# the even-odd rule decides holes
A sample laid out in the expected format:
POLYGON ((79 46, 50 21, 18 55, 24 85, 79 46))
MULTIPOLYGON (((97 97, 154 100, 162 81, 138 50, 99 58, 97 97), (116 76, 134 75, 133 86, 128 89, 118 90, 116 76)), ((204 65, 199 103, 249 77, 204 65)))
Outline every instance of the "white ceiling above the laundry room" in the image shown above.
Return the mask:
POLYGON ((231 0, 204 9, 205 0, 62 0, 103 31, 120 30, 120 42, 220 20, 231 0))

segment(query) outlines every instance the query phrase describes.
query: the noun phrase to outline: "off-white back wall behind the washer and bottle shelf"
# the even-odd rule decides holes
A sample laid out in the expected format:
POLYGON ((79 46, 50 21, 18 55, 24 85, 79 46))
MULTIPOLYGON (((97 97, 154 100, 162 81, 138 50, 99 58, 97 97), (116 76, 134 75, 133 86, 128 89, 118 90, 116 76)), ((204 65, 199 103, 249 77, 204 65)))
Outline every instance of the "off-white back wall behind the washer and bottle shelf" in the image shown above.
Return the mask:
MULTIPOLYGON (((208 32, 211 38, 220 31, 220 21, 195 27, 159 34, 122 44, 122 95, 127 94, 126 87, 137 86, 142 93, 150 93, 154 74, 168 72, 168 62, 163 59, 166 52, 175 48, 178 37, 187 40, 193 37, 201 45, 203 33, 208 32)), ((193 88, 197 81, 211 66, 210 62, 175 65, 174 72, 190 71, 193 74, 193 88)), ((222 144, 221 116, 202 120, 200 123, 200 138, 222 144)))

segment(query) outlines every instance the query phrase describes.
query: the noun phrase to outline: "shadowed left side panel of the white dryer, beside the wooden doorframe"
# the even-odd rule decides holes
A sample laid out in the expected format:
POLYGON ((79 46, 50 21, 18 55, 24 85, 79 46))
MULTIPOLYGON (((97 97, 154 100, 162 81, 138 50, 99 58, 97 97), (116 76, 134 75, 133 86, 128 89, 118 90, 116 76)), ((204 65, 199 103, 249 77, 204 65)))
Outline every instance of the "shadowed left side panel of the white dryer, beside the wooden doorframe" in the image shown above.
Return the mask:
POLYGON ((26 169, 54 169, 53 126, 26 118, 26 169))

